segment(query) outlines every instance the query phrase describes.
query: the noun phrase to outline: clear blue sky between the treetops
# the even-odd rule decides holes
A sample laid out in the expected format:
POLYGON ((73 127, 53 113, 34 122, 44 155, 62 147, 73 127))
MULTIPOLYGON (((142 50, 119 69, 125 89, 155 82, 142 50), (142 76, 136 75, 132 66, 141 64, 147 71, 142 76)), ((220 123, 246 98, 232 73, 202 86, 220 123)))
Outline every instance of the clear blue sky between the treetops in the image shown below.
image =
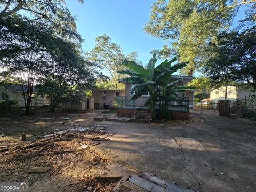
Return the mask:
MULTIPOLYGON (((161 49, 165 42, 151 35, 146 35, 143 28, 149 21, 150 6, 156 0, 84 0, 84 4, 76 0, 67 0, 67 7, 77 15, 77 30, 85 43, 84 51, 91 51, 95 45, 95 37, 107 34, 112 42, 118 43, 124 54, 136 51, 138 60, 147 63, 150 51, 161 49)), ((244 18, 241 9, 233 26, 244 18)))

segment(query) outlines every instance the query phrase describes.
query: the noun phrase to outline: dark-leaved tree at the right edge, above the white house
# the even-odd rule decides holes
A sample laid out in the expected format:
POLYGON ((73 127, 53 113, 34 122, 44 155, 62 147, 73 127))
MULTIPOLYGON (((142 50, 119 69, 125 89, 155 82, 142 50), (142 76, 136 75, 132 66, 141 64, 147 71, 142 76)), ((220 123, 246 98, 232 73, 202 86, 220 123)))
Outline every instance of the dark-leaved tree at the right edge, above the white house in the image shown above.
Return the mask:
POLYGON ((227 86, 230 82, 248 82, 256 89, 256 26, 244 31, 220 33, 214 43, 209 43, 205 71, 216 86, 227 86))

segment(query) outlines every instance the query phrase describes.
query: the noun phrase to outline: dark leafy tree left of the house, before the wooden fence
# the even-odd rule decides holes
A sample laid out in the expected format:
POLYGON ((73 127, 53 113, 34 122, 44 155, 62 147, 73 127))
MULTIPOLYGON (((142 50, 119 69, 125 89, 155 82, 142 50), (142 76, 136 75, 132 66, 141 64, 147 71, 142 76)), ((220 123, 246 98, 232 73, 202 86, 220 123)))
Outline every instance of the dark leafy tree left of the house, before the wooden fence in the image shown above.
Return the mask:
POLYGON ((76 44, 52 38, 46 45, 51 55, 46 74, 39 79, 39 94, 50 98, 50 111, 55 111, 60 101, 75 94, 85 94, 94 87, 97 73, 93 63, 86 62, 76 44))

